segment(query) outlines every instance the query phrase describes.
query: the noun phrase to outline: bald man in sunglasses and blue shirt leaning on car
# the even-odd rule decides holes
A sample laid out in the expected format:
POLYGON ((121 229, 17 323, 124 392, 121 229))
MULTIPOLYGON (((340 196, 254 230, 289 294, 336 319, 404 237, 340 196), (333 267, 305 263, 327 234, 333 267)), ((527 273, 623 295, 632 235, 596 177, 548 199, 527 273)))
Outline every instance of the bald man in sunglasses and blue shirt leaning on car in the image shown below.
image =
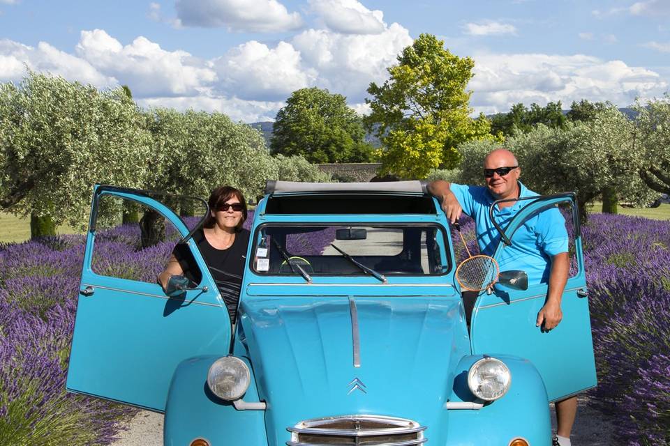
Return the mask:
MULTIPOLYGON (((521 167, 514 154, 500 148, 484 158, 485 187, 449 184, 437 180, 429 185, 429 191, 441 201, 442 210, 450 222, 459 220, 461 213, 466 213, 475 220, 479 251, 492 256, 500 241, 500 234, 489 217, 489 207, 493 201, 537 196, 519 181, 519 176, 521 167)), ((498 203, 493 209, 493 217, 504 227, 505 222, 511 220, 522 207, 523 201, 498 203)), ((551 330, 563 318, 560 300, 569 272, 565 222, 557 210, 554 210, 553 217, 560 219, 558 224, 556 220, 551 220, 551 217, 539 221, 539 224, 533 227, 533 232, 520 234, 518 238, 521 243, 514 245, 512 251, 508 250, 511 253, 508 259, 499 259, 501 267, 507 266, 505 269, 526 270, 530 284, 541 282, 549 284, 546 302, 537 314, 536 325, 542 330, 551 330), (518 268, 522 261, 523 268, 518 268)), ((519 231, 523 230, 522 226, 519 231)), ((570 446, 570 431, 576 410, 576 397, 556 402, 558 430, 556 437, 553 438, 553 446, 570 446)))

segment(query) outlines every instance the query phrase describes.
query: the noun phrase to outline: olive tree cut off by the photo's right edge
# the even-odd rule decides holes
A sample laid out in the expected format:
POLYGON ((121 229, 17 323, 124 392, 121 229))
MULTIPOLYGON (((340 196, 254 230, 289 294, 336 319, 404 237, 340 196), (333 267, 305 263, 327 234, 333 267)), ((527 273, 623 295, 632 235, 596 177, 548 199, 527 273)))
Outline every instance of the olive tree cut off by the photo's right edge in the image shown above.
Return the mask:
POLYGON ((655 192, 670 194, 670 95, 638 103, 635 148, 643 151, 641 177, 655 192))

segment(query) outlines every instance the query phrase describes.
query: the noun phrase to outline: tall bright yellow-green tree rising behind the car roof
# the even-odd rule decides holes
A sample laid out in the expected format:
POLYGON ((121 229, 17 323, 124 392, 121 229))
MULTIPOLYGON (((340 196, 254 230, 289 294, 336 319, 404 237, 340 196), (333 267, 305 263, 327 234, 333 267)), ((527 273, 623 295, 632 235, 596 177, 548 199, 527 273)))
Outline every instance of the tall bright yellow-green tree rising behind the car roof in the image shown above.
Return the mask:
POLYGON ((384 84, 370 84, 372 98, 366 100, 371 107, 366 127, 386 148, 380 173, 425 178, 438 167, 456 167, 456 146, 491 138, 489 120, 483 114, 470 117, 466 86, 475 63, 455 56, 430 34, 419 36, 397 60, 384 84))

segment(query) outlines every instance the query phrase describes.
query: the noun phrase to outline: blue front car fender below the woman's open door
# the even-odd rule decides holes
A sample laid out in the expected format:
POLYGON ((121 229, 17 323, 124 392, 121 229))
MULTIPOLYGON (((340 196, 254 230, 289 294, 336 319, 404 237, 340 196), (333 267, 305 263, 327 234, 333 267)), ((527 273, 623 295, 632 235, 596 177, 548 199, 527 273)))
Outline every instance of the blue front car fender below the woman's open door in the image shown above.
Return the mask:
MULTIPOLYGON (((211 446, 267 445, 265 410, 237 410, 207 386, 207 372, 218 355, 192 357, 174 371, 165 403, 163 443, 166 446, 190 445, 204 438, 211 446)), ((246 357, 240 357, 248 365, 246 357)), ((253 371, 244 401, 258 402, 253 371)))

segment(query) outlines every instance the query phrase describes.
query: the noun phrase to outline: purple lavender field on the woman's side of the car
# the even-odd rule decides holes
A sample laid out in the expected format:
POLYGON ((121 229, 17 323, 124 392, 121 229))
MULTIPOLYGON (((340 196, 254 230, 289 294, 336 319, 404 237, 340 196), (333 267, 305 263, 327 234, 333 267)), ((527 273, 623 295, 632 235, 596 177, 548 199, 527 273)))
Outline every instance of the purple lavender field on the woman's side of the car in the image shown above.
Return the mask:
MULTIPOLYGON (((167 240, 147 249, 138 249, 136 224, 98 231, 94 270, 155 282, 178 238, 167 226, 167 240)), ((65 391, 84 244, 57 236, 0 245, 0 445, 108 445, 137 412, 65 391)))

